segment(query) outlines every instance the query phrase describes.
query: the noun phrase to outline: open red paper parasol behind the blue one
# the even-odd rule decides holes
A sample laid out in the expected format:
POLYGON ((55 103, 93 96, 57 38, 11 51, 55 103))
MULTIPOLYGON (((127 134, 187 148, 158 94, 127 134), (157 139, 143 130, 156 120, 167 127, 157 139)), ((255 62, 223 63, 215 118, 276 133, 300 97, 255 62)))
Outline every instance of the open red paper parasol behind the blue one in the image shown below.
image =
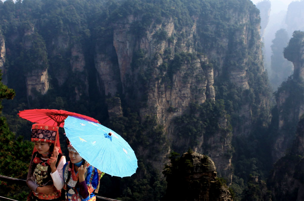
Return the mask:
MULTIPOLYGON (((74 112, 68 112, 65 110, 32 109, 32 110, 19 111, 18 115, 19 117, 29 120, 31 122, 60 126, 60 127, 63 127, 64 119, 66 119, 67 116, 78 116, 85 118, 91 122, 99 123, 98 120, 92 117, 88 117, 74 112)), ((59 145, 59 149, 60 149, 59 138, 57 136, 58 136, 58 130, 55 141, 56 141, 56 145, 59 145)))

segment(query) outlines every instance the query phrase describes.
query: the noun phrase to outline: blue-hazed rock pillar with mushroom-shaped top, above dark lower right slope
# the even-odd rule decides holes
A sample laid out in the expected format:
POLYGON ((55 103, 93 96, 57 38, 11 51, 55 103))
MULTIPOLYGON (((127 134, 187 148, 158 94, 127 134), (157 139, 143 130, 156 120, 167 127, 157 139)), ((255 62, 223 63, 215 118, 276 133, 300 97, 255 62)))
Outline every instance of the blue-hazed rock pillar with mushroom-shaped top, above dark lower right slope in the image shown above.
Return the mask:
POLYGON ((304 72, 304 32, 295 31, 284 57, 294 64, 293 76, 283 82, 276 92, 277 131, 272 146, 274 162, 285 155, 288 146, 294 140, 296 124, 304 113, 303 72, 304 72))

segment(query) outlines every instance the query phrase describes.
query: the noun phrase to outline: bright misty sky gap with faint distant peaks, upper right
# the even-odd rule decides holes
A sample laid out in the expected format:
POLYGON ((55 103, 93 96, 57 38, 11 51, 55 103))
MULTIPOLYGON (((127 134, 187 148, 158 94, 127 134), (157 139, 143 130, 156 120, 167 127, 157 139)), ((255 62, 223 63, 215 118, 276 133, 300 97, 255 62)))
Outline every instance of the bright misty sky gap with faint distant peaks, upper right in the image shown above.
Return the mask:
MULTIPOLYGON (((282 2, 281 2, 282 4, 282 2)), ((274 90, 277 89, 278 85, 284 81, 284 79, 287 79, 288 76, 291 75, 290 72, 286 73, 285 76, 280 78, 278 76, 278 72, 276 71, 275 68, 273 68, 273 64, 277 62, 276 58, 281 57, 282 58, 282 52, 283 51, 275 51, 273 52, 272 46, 273 41, 276 40, 276 32, 279 31, 280 29, 285 29, 287 31, 287 38, 289 39, 292 37, 292 33, 295 30, 304 30, 303 27, 303 21, 304 21, 304 16, 303 16, 303 7, 304 7, 304 1, 295 1, 291 2, 288 5, 288 8, 286 10, 281 10, 279 11, 280 8, 283 8, 283 5, 281 5, 279 1, 272 2, 271 7, 269 1, 262 1, 257 3, 257 8, 260 10, 260 15, 261 15, 261 22, 264 21, 264 24, 267 26, 264 28, 265 33, 261 32, 261 36, 264 36, 263 42, 264 42, 264 65, 265 69, 268 70, 268 75, 271 77, 270 82, 274 90), (271 15, 269 15, 271 9, 271 15), (274 11, 277 11, 277 13, 274 13, 274 11), (279 11, 279 12, 278 12, 279 11), (268 23, 266 23, 268 22, 268 23)), ((261 27, 264 27, 263 23, 261 23, 261 27)), ((277 42, 279 43, 279 41, 277 42)), ((286 39, 282 41, 282 44, 280 46, 284 46, 286 43, 286 39)), ((277 44, 278 45, 278 44, 277 44)), ((286 63, 287 61, 285 61, 286 63)), ((284 66, 285 64, 283 64, 284 66)), ((287 62, 288 66, 291 65, 290 62, 287 62)), ((287 69, 290 69, 288 67, 287 69)))

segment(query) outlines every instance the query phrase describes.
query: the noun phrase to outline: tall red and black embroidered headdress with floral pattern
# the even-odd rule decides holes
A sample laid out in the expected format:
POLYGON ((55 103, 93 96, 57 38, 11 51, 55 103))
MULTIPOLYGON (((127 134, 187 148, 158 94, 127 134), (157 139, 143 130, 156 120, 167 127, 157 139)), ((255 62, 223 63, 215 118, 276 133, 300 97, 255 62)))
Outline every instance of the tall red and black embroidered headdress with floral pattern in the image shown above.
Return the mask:
POLYGON ((31 141, 55 143, 58 127, 46 124, 33 124, 31 141))

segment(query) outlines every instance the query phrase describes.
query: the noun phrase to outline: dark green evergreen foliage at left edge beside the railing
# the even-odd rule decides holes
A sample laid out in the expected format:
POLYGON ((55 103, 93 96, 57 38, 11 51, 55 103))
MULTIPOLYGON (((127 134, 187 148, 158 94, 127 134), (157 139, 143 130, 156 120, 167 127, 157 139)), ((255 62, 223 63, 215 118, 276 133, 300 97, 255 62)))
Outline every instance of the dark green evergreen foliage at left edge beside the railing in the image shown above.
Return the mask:
MULTIPOLYGON (((0 175, 26 179, 29 160, 33 151, 33 144, 24 141, 23 136, 16 139, 16 135, 10 131, 6 118, 2 115, 2 99, 13 99, 15 92, 2 82, 0 71, 0 175)), ((26 189, 15 184, 0 183, 1 196, 23 200, 26 199, 26 189)))

